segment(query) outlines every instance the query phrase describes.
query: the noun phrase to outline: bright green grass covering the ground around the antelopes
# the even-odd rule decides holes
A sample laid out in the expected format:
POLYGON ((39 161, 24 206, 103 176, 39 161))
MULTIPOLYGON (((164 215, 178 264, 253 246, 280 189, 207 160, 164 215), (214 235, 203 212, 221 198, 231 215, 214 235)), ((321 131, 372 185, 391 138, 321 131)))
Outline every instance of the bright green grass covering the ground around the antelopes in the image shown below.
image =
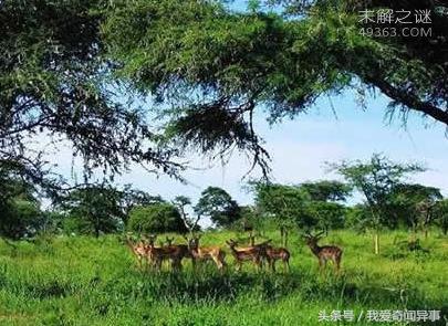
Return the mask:
MULTIPOLYGON (((268 235, 279 243, 277 233, 268 235)), ((232 236, 207 233, 202 244, 232 236)), ((448 318, 448 240, 435 232, 421 243, 429 253, 415 253, 394 244, 406 239, 383 235, 374 255, 368 235, 332 232, 321 243, 343 248, 338 277, 320 275, 299 238, 290 241, 289 274, 250 265, 236 273, 228 254, 223 275, 212 265, 192 273, 189 262, 177 274, 167 266, 140 272, 118 236, 42 238, 17 249, 0 242, 0 325, 324 325, 317 322, 324 309, 440 309, 448 318)), ((354 324, 392 325, 346 323, 354 324)))

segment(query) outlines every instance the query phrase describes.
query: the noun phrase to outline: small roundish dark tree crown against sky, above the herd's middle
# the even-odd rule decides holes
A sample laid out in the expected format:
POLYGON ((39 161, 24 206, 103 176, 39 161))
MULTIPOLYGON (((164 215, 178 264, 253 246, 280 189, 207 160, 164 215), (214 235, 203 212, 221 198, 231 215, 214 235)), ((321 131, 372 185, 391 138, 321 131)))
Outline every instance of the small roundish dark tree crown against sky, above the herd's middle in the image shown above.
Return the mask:
POLYGON ((195 212, 208 217, 218 227, 230 227, 240 215, 240 207, 223 189, 208 187, 195 206, 195 212))

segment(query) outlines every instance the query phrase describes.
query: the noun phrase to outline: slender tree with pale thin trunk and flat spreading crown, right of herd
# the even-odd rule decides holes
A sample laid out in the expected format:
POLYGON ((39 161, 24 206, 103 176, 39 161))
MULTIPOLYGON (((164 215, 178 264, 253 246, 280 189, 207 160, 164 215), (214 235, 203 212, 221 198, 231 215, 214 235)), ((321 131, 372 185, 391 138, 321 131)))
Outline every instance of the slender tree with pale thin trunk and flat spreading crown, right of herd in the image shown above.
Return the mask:
POLYGON ((396 164, 382 155, 374 154, 366 161, 342 161, 331 165, 331 169, 342 175, 365 199, 368 213, 363 214, 363 224, 373 231, 375 254, 379 253, 382 227, 394 224, 390 221, 393 206, 390 196, 408 175, 425 169, 417 164, 396 164))

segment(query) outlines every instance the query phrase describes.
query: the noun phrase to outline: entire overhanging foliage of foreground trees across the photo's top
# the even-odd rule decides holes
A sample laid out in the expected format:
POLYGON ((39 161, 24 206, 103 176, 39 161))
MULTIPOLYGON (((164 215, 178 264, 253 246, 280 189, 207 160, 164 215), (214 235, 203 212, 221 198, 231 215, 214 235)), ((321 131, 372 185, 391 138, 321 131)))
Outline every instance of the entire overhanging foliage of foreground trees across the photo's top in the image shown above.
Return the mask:
POLYGON ((1 1, 0 159, 42 181, 43 150, 29 143, 38 136, 69 141, 86 176, 131 162, 177 175, 176 157, 189 146, 219 157, 238 148, 268 172, 253 115, 292 118, 348 88, 377 88, 390 98, 388 113, 448 124, 442 1, 250 3, 1 1), (433 34, 363 35, 366 7, 428 9, 433 34))

